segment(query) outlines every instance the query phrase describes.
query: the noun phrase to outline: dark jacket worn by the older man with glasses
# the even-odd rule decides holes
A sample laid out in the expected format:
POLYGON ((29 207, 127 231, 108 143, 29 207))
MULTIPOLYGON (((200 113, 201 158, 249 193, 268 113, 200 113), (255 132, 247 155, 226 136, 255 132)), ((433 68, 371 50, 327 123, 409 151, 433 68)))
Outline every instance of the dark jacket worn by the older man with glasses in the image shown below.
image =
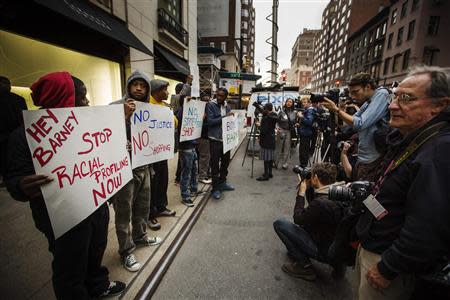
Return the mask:
MULTIPOLYGON (((423 128, 439 121, 450 121, 450 112, 423 128)), ((404 138, 393 131, 386 161, 399 156, 423 128, 404 138)), ((365 212, 360 218, 356 230, 362 247, 382 256, 378 269, 385 278, 428 272, 450 253, 449 153, 447 125, 385 177, 376 198, 388 214, 376 220, 365 212)))

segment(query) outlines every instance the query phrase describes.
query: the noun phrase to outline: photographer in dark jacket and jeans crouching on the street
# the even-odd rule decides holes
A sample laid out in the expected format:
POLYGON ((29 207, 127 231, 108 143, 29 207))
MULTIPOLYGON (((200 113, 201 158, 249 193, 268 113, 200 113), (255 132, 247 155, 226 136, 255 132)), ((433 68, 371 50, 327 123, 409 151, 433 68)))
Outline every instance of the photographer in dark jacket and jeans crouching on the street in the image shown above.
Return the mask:
MULTIPOLYGON (((317 163, 310 170, 295 167, 294 172, 300 173, 294 223, 278 219, 273 226, 288 255, 294 259, 281 269, 290 276, 312 281, 316 279, 316 272, 310 259, 329 263, 328 250, 343 217, 340 206, 328 198, 330 186, 337 184, 337 170, 331 163, 317 163)), ((343 264, 333 264, 333 277, 344 274, 343 264)))

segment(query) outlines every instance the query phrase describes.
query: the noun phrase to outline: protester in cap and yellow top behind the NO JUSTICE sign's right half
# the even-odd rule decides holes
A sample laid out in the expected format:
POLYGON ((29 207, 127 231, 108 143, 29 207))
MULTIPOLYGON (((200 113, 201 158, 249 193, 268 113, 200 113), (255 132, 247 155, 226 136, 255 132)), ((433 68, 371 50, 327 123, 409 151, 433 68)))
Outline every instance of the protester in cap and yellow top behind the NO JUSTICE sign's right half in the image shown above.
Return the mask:
MULTIPOLYGON (((169 106, 164 100, 169 97, 167 88, 169 83, 164 80, 155 79, 150 82, 151 95, 150 104, 169 106)), ((175 127, 178 126, 178 120, 174 116, 175 127)), ((158 161, 152 164, 153 174, 151 183, 151 202, 149 222, 152 223, 158 216, 173 217, 176 212, 167 208, 167 188, 169 184, 169 167, 167 160, 158 161)))

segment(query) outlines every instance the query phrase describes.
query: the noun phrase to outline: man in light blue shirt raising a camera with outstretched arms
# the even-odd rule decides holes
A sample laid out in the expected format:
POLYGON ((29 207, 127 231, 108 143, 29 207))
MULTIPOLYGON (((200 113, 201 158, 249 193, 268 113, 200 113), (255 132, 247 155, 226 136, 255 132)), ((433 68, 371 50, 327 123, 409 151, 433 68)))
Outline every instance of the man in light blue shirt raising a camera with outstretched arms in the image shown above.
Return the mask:
POLYGON ((354 75, 348 83, 348 89, 350 97, 362 104, 353 116, 327 98, 322 105, 358 132, 358 161, 353 179, 373 181, 381 160, 381 154, 375 146, 374 133, 383 122, 387 123, 390 95, 386 88, 377 88, 374 79, 367 73, 354 75))

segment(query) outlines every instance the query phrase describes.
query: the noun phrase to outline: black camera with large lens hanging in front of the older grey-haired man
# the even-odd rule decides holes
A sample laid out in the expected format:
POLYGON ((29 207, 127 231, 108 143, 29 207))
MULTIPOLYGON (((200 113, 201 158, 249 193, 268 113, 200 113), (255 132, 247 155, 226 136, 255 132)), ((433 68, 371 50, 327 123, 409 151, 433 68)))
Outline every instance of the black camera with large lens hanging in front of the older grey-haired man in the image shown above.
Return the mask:
POLYGON ((328 198, 332 201, 346 202, 355 210, 362 209, 362 202, 370 195, 373 183, 369 181, 354 181, 349 187, 331 186, 328 198))

